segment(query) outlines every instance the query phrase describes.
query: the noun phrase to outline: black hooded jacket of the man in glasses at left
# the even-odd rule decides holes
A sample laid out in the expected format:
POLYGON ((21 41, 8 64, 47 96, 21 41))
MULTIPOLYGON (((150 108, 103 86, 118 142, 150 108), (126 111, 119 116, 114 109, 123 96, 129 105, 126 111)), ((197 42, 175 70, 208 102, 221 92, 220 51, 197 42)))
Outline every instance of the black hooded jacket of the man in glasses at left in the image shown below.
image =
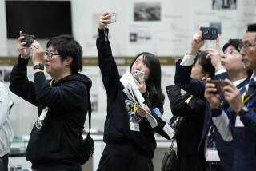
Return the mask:
POLYGON ((42 109, 49 107, 42 128, 35 126, 30 133, 26 159, 32 169, 81 170, 82 129, 86 120, 90 78, 71 74, 52 87, 42 72, 34 74, 34 82, 27 78, 28 60, 18 58, 10 74, 10 90, 42 109))

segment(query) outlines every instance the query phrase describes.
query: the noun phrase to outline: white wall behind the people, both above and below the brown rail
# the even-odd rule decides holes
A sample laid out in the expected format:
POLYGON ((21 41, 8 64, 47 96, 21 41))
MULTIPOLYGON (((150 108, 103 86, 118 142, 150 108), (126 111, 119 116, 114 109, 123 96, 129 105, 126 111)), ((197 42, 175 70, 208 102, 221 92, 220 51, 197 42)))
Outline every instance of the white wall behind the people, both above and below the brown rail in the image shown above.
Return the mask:
MULTIPOLYGON (((238 1, 238 7, 234 10, 212 10, 212 1, 159 0, 161 21, 158 22, 135 22, 134 3, 139 2, 136 0, 71 0, 71 2, 74 38, 81 43, 84 56, 97 56, 95 38, 98 33, 98 17, 104 11, 118 13, 118 21, 110 25, 110 43, 114 56, 130 56, 141 51, 180 56, 186 51, 190 38, 198 30, 199 25, 209 26, 210 22, 221 22, 223 45, 229 38, 242 38, 247 23, 256 22, 255 0, 238 1), (150 36, 151 39, 130 42, 130 32, 150 36)), ((17 41, 6 38, 4 0, 0 0, 0 28, 0 57, 17 56, 17 41)), ((38 41, 45 46, 46 40, 38 41)), ((206 46, 213 45, 213 42, 206 43, 206 46)), ((127 68, 127 66, 119 67, 121 70, 127 68)), ((92 78, 92 98, 98 101, 98 110, 92 117, 93 128, 103 130, 106 117, 106 93, 102 86, 101 74, 98 66, 86 66, 83 72, 92 78)), ((165 93, 165 86, 173 82, 174 66, 162 66, 162 76, 162 89, 165 93)), ((32 75, 30 78, 33 78, 32 75)), ((37 118, 37 110, 19 97, 14 96, 14 101, 15 105, 10 117, 15 134, 18 136, 28 134, 37 118)), ((168 121, 171 115, 167 96, 164 109, 163 118, 168 121)))

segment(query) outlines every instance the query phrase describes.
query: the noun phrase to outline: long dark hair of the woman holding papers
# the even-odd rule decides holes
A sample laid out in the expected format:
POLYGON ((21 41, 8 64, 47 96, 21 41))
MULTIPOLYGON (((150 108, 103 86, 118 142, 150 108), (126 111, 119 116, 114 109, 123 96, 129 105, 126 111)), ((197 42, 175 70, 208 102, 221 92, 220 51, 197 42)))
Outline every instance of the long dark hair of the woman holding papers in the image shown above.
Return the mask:
POLYGON ((150 76, 146 82, 146 90, 149 93, 150 102, 152 105, 162 109, 165 96, 163 95, 161 89, 162 72, 158 57, 149 52, 142 52, 134 58, 133 62, 131 62, 130 70, 136 59, 141 55, 143 56, 143 62, 150 69, 150 76))

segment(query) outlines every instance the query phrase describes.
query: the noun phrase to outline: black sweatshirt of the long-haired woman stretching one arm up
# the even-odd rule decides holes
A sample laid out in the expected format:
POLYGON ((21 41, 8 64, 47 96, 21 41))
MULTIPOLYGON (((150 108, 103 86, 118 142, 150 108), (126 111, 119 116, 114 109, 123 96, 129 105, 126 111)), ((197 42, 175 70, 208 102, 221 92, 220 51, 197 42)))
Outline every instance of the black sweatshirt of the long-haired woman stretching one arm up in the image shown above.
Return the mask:
MULTIPOLYGON (((126 109, 126 100, 128 98, 126 94, 122 92, 123 86, 119 81, 120 76, 112 56, 110 42, 108 40, 105 41, 103 30, 98 31, 99 37, 96 42, 98 49, 98 65, 102 72, 102 81, 107 94, 107 116, 103 141, 117 145, 133 145, 135 149, 138 149, 143 154, 146 154, 146 156, 152 158, 154 156, 154 149, 156 148, 154 131, 169 138, 166 133, 162 131, 166 122, 162 121, 160 117, 151 111, 154 118, 158 121, 156 128, 152 129, 149 122, 142 119, 139 123, 140 132, 130 131, 130 116, 126 109)), ((152 108, 154 107, 155 106, 152 106, 152 108)))

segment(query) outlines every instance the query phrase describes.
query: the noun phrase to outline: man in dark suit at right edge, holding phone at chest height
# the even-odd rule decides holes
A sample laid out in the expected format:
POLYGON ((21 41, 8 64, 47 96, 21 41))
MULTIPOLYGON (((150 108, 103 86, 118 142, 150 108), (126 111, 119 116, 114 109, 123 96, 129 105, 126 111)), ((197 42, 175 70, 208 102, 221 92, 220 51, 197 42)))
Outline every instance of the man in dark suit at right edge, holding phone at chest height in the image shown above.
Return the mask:
POLYGON ((254 76, 250 78, 242 89, 238 89, 229 80, 225 80, 226 86, 223 94, 230 108, 226 111, 219 105, 216 88, 206 81, 206 99, 210 102, 210 108, 215 117, 222 117, 218 129, 224 140, 226 137, 234 139, 232 151, 234 151, 233 167, 234 171, 256 170, 256 24, 248 26, 248 30, 242 40, 242 62, 254 76), (226 117, 228 116, 228 117, 226 117))

